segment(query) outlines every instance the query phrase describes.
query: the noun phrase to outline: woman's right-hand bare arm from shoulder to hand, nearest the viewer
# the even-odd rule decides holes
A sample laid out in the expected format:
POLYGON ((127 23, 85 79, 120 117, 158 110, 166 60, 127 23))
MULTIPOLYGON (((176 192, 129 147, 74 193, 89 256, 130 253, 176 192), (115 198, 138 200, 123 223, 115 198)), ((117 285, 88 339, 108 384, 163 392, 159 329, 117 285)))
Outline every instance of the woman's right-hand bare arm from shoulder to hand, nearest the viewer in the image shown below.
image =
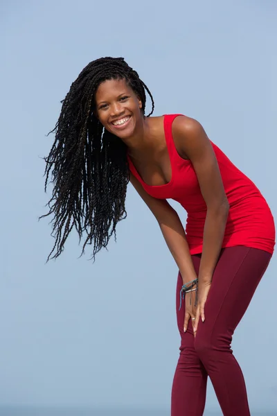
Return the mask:
POLYGON ((197 328, 199 317, 202 320, 205 319, 204 304, 222 249, 229 202, 224 191, 213 146, 202 125, 189 117, 178 116, 172 124, 172 134, 181 157, 190 159, 193 164, 207 207, 202 258, 198 275, 198 316, 196 317, 197 322, 195 322, 197 328))

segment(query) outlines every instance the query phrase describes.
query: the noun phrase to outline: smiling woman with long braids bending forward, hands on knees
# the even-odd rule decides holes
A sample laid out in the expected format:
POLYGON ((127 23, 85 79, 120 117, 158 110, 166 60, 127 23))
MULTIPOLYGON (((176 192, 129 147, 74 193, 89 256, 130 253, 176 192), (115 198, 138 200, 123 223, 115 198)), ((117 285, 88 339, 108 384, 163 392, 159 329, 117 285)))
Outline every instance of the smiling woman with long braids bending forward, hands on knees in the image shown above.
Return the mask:
POLYGON ((130 180, 179 268, 172 416, 203 415, 207 376, 224 415, 249 416, 230 344, 274 251, 274 220, 257 187, 197 121, 145 117, 145 90, 153 112, 148 87, 123 58, 91 62, 71 85, 46 157, 46 185, 49 175, 54 184, 49 257, 60 255, 75 227, 94 259, 125 218, 130 180), (188 212, 186 232, 168 198, 188 212))

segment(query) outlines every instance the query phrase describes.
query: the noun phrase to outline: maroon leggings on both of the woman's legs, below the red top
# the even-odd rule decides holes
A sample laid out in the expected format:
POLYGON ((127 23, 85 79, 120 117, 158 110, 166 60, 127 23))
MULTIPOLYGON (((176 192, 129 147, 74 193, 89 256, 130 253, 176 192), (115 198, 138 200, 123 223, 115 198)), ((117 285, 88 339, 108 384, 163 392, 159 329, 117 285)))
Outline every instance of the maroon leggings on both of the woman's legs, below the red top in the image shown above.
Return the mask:
MULTIPOLYGON (((198 273, 201 254, 193 255, 198 273)), ((191 320, 184 333, 185 304, 177 281, 177 323, 181 335, 180 356, 172 385, 171 416, 202 416, 210 377, 224 416, 250 416, 247 390, 231 350, 235 327, 242 319, 271 254, 256 248, 224 248, 213 274, 205 305, 205 321, 199 320, 193 335, 191 320)))

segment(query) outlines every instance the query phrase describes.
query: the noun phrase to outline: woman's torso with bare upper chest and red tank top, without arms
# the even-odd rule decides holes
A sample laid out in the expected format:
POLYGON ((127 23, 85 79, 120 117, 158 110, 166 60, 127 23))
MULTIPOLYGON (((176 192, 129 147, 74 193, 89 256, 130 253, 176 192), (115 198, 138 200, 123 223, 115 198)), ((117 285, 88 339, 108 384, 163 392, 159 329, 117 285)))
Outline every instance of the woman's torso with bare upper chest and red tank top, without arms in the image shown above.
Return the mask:
MULTIPOLYGON (((153 198, 173 199, 188 213, 186 236, 190 254, 202 252, 206 203, 190 160, 174 139, 178 114, 153 117, 153 146, 142 159, 129 157, 129 168, 153 198), (139 160, 140 159, 140 160, 139 160)), ((151 131, 151 130, 150 130, 151 131)), ((255 184, 211 141, 230 210, 222 247, 245 245, 274 251, 275 228, 271 211, 255 184)))

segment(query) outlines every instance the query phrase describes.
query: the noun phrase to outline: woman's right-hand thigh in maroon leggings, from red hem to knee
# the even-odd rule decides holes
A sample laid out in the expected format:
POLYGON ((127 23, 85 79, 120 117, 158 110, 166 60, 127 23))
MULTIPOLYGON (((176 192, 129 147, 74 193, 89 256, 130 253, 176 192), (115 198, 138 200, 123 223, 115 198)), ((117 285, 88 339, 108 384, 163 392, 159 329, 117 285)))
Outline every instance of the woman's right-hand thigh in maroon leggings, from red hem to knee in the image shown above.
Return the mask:
POLYGON ((271 254, 256 248, 222 249, 205 305, 205 322, 199 321, 197 337, 232 336, 270 259, 271 254))

